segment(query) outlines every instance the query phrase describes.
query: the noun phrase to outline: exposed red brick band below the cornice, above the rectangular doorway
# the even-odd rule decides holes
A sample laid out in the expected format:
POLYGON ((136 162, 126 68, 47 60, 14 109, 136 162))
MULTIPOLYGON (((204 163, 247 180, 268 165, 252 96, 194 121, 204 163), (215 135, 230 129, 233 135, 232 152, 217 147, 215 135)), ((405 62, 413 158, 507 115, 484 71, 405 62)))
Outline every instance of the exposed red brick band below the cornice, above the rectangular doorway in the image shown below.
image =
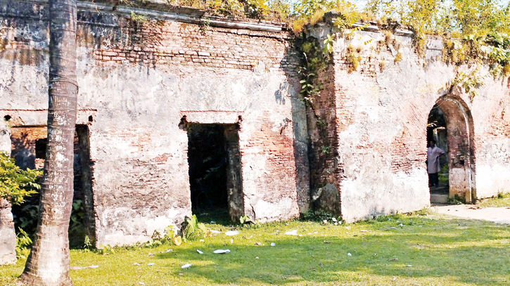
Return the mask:
MULTIPOLYGON (((253 70, 260 61, 272 63, 269 68, 295 70, 297 63, 288 60, 291 36, 288 32, 257 32, 202 27, 183 22, 148 20, 137 23, 121 18, 123 41, 106 44, 94 51, 102 65, 141 63, 227 67, 253 70), (183 37, 186 35, 186 37, 183 37), (285 52, 283 52, 285 51, 285 52)), ((81 30, 85 39, 87 30, 81 30)))

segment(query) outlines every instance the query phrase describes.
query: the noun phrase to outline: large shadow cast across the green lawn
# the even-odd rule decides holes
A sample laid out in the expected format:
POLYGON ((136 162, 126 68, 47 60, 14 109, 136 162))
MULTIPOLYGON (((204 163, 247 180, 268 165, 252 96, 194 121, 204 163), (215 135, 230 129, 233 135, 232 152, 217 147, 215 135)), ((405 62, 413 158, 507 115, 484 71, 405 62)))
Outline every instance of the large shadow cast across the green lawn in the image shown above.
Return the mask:
MULTIPOLYGON (((357 236, 352 236, 353 231, 350 238, 276 235, 274 240, 264 242, 265 246, 255 246, 255 240, 250 241, 253 245, 245 246, 212 243, 200 246, 205 252, 202 255, 190 248, 181 249, 178 257, 160 254, 158 258, 202 264, 186 273, 215 283, 353 282, 378 275, 388 280, 393 276, 449 277, 450 281, 475 285, 508 285, 510 247, 508 243, 495 246, 490 241, 504 240, 502 232, 508 238, 509 228, 457 222, 443 228, 433 223, 414 226, 412 233, 409 226, 383 227, 388 230, 371 230, 374 234, 357 236), (270 242, 276 242, 276 246, 270 247, 270 242), (485 245, 489 243, 490 246, 485 245), (218 248, 229 248, 231 253, 212 254, 218 248)), ((176 271, 174 275, 182 272, 176 271)))

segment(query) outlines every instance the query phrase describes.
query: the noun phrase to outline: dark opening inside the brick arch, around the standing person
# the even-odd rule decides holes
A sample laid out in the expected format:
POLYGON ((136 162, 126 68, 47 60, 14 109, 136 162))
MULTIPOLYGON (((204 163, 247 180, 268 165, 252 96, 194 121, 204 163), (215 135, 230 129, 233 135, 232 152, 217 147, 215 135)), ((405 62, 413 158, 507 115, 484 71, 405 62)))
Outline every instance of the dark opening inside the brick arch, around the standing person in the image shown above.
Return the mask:
POLYGON ((445 115, 438 104, 434 105, 428 115, 427 124, 427 148, 429 143, 435 142, 435 146, 445 151, 445 155, 439 157, 440 171, 438 173, 438 186, 431 186, 432 202, 446 202, 449 195, 449 166, 448 166, 448 139, 445 115))

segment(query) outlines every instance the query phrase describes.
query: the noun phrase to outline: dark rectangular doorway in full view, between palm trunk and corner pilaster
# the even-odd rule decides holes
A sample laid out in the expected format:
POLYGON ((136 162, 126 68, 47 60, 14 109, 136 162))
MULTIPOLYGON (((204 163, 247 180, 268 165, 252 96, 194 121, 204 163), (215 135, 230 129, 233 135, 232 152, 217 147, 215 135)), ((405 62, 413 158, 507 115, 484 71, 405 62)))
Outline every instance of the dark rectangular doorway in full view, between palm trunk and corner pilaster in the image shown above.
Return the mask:
POLYGON ((186 131, 193 214, 237 221, 243 215, 238 125, 187 124, 186 131))

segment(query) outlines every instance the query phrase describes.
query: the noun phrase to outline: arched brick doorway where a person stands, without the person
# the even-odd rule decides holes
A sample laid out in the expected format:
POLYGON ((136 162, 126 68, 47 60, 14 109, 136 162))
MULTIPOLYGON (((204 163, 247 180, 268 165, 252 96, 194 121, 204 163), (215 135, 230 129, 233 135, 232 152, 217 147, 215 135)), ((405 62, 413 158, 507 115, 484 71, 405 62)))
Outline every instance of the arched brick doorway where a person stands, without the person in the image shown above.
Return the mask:
POLYGON ((476 200, 473 118, 461 98, 441 96, 428 116, 427 142, 445 151, 440 156, 439 186, 431 187, 431 202, 455 198, 476 200))

